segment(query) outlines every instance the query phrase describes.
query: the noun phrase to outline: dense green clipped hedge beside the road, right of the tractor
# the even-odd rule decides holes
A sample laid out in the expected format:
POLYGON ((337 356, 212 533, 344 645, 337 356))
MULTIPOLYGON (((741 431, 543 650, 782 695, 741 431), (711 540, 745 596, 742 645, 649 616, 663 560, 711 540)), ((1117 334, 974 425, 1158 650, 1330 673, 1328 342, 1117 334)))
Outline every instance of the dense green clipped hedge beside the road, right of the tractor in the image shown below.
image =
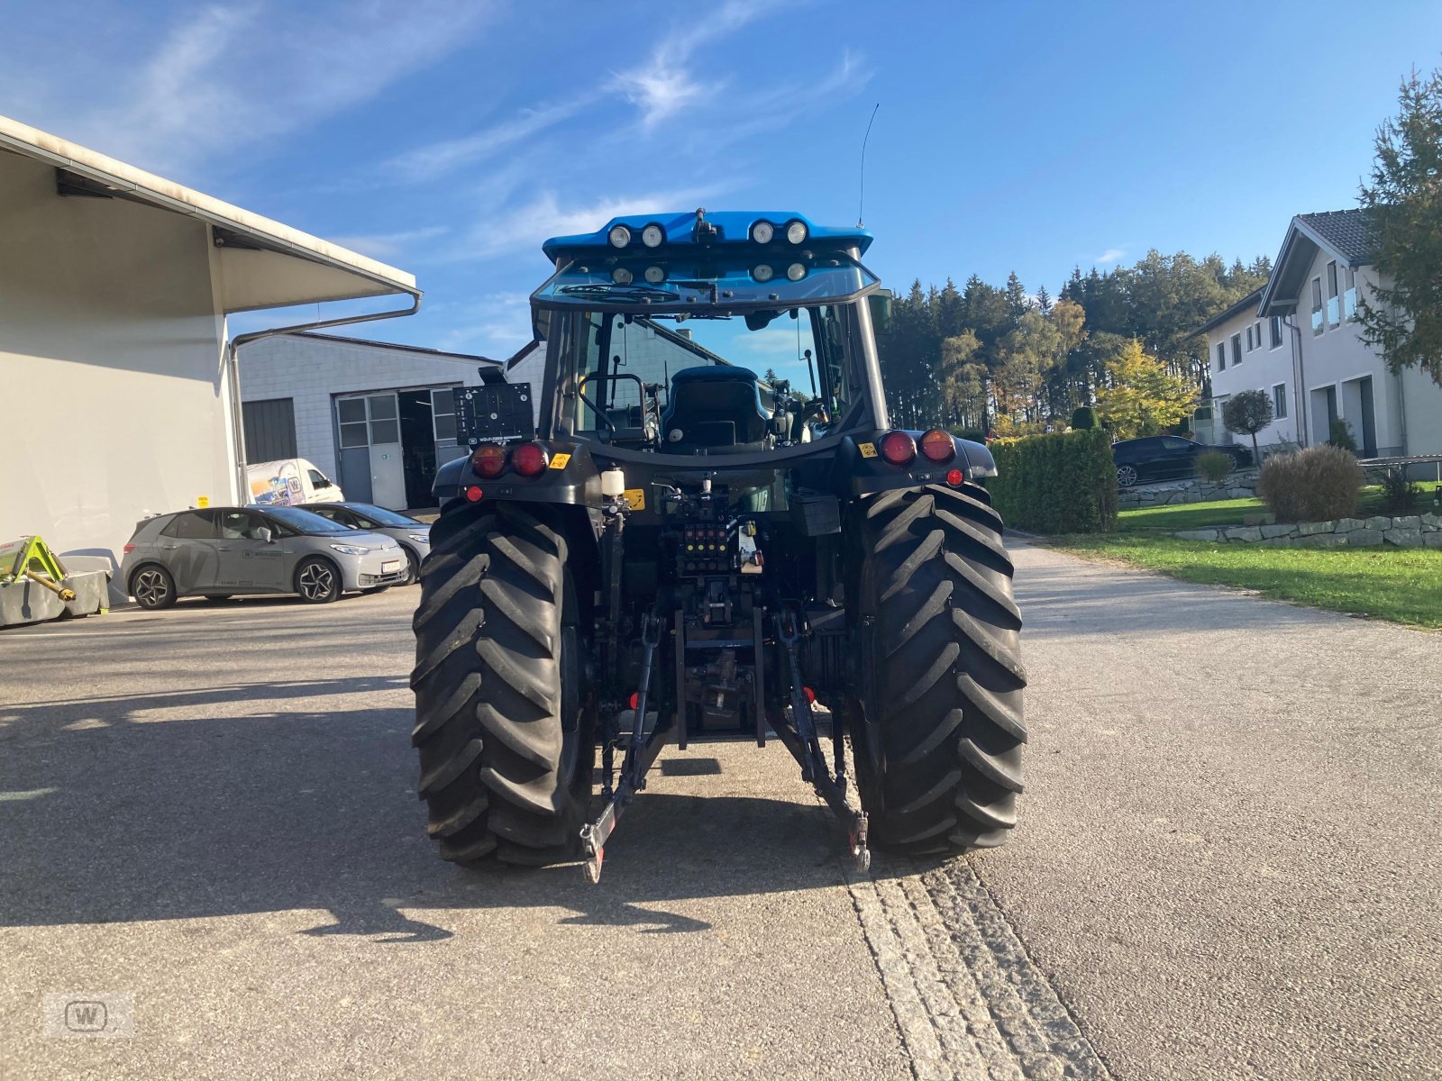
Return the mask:
POLYGON ((988 479, 1008 525, 1038 533, 1109 533, 1116 525, 1116 466, 1105 428, 1028 435, 991 445, 988 479))

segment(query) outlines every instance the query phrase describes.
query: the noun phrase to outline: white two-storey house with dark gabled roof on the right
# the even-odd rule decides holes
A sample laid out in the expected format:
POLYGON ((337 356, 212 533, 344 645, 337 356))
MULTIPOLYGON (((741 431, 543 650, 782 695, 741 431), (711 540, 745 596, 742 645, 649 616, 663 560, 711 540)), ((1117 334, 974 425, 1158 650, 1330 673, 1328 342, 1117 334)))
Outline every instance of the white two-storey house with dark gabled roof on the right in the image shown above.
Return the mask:
POLYGON ((1325 442, 1347 422, 1361 457, 1442 454, 1442 388, 1420 369, 1393 375, 1355 321, 1377 284, 1364 210, 1292 219, 1268 284, 1208 321, 1214 434, 1240 391, 1272 396, 1259 444, 1325 442))

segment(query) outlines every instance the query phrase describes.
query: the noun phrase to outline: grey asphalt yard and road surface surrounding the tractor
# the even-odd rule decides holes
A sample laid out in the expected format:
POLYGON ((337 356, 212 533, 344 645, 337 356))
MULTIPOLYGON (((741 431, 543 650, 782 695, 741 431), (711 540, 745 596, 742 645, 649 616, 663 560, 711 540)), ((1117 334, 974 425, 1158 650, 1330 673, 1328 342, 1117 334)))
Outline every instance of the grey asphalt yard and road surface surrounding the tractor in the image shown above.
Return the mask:
POLYGON ((0 633, 0 1077, 1442 1077, 1442 637, 1017 555, 1017 837, 870 878, 744 744, 441 863, 408 590, 0 633))

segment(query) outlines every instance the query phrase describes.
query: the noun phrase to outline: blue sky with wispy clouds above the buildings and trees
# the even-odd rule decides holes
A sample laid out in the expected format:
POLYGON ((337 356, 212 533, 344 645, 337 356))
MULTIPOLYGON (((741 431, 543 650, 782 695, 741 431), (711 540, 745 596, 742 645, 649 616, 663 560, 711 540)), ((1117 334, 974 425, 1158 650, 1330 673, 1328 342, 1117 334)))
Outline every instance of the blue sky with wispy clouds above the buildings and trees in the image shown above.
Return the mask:
POLYGON ((855 222, 877 102, 867 262, 895 288, 1275 255, 1355 203, 1399 79, 1442 63, 1435 0, 0 0, 0 112, 408 270, 423 314, 358 333, 490 356, 529 337, 555 232, 855 222))

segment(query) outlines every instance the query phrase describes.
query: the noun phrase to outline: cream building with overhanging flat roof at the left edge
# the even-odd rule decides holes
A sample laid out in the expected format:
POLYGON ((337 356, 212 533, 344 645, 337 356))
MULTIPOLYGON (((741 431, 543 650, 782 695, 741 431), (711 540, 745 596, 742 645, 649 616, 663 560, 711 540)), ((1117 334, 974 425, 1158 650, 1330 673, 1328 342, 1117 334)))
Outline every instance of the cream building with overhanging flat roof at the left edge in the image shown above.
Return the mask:
POLYGON ((404 271, 6 117, 0 151, 0 540, 71 569, 239 494, 228 313, 418 303, 404 271))

